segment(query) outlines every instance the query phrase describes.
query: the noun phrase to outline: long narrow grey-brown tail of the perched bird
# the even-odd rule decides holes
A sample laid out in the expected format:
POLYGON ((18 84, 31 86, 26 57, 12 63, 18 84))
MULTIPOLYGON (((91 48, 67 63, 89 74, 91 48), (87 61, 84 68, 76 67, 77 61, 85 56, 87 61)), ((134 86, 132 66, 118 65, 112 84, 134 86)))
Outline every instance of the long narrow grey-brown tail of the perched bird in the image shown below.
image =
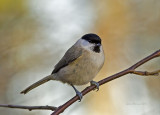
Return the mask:
POLYGON ((43 83, 46 83, 46 82, 50 81, 50 80, 53 80, 53 74, 52 74, 52 75, 49 75, 49 76, 46 76, 45 78, 43 78, 43 79, 37 81, 36 83, 32 84, 31 86, 27 87, 25 90, 23 90, 23 91, 21 92, 21 94, 26 94, 26 93, 28 93, 30 90, 32 90, 32 89, 40 86, 40 85, 43 84, 43 83))

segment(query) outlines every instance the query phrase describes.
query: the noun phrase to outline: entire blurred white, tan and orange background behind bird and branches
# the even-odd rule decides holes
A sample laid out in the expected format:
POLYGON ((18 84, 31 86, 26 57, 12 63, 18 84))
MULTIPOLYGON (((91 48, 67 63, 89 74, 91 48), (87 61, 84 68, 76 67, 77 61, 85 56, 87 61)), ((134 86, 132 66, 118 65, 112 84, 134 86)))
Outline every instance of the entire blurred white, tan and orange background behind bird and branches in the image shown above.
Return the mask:
MULTIPOLYGON (((59 106, 73 97, 72 87, 56 81, 20 92, 49 75, 86 33, 103 40, 106 60, 98 81, 160 49, 160 1, 0 0, 0 104, 59 106)), ((157 69, 160 58, 138 68, 157 69)), ((160 78, 127 75, 89 93, 63 115, 160 115, 159 108, 160 78)), ((1 115, 51 113, 0 108, 1 115)))

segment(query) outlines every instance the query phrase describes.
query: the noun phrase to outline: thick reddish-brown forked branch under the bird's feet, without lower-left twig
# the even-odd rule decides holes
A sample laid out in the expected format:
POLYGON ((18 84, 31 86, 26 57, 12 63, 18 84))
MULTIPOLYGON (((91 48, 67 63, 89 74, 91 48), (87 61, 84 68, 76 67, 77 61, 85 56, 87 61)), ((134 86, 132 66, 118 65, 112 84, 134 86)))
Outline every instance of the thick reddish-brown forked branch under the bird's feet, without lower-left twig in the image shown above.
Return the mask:
MULTIPOLYGON (((129 74, 129 73, 130 74, 137 74, 137 75, 153 75, 153 74, 156 75, 157 73, 159 73, 159 70, 155 71, 155 72, 140 72, 140 71, 135 71, 135 69, 138 68, 139 66, 143 65, 144 63, 148 62, 149 60, 154 59, 159 56, 160 56, 160 49, 158 51, 154 52, 153 54, 147 56, 146 58, 142 59, 141 61, 137 62, 136 64, 129 67, 128 69, 125 69, 117 74, 109 76, 109 77, 99 81, 98 83, 101 86, 109 81, 112 81, 114 79, 117 79, 117 78, 124 76, 126 74, 129 74)), ((94 89, 95 89, 95 86, 92 85, 92 86, 86 87, 81 93, 84 96, 94 89)), ((74 102, 76 102, 78 99, 79 99, 78 96, 74 96, 72 99, 67 101, 65 104, 63 104, 62 106, 59 106, 58 109, 56 109, 51 115, 59 115, 66 108, 68 108, 70 105, 72 105, 74 102)))

